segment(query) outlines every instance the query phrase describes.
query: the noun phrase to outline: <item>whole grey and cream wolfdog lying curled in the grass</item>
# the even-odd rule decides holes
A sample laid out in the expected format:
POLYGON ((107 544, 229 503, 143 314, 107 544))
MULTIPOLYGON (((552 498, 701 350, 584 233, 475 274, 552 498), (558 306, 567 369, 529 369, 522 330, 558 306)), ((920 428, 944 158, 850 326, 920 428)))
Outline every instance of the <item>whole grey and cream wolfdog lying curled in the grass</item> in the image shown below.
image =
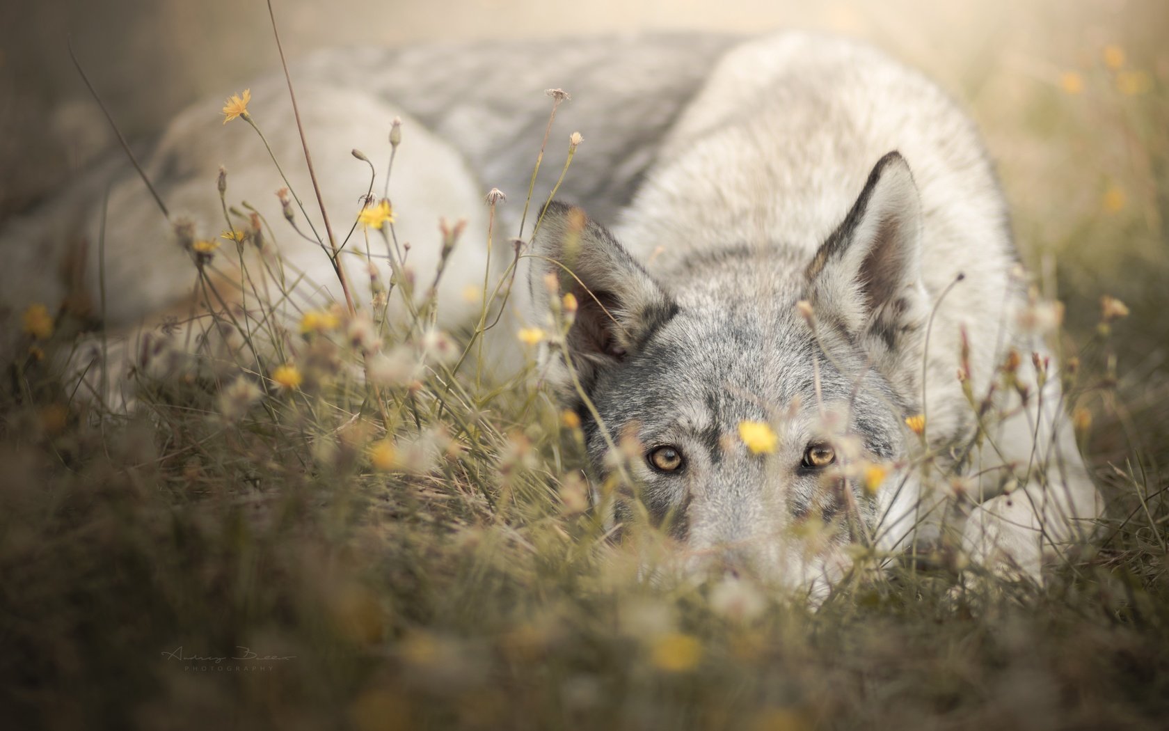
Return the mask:
MULTIPOLYGON (((524 251, 526 317, 562 329, 541 373, 579 414, 595 481, 641 501, 687 567, 822 595, 853 565, 850 545, 892 557, 948 535, 977 564, 1039 578, 1100 515, 977 132, 879 50, 802 33, 629 36, 334 50, 292 76, 334 211, 366 192, 350 149, 386 159, 386 125, 404 119, 389 194, 419 271, 437 261, 417 244, 440 214, 475 239, 487 188, 523 199, 547 119, 539 91, 572 92, 554 130, 586 142, 558 194, 570 205, 540 212, 524 251)), ((257 124, 286 117, 283 77, 250 89, 257 124)), ((209 109, 177 118, 147 173, 172 207, 214 221, 222 160, 233 193, 278 220, 268 153, 209 109)), ((265 131, 295 159, 291 125, 265 131)), ((148 327, 189 289, 189 262, 155 243, 158 214, 129 172, 95 168, 8 226, 9 271, 44 271, 76 232, 95 241, 103 208, 103 324, 148 327)), ((502 209, 500 229, 521 226, 519 208, 502 209)), ((319 247, 281 246, 330 289, 319 247)), ((485 255, 451 262, 448 324, 469 316, 458 292, 485 255)), ((92 246, 87 258, 92 292, 92 246)), ((8 278, 11 311, 70 291, 8 278)))

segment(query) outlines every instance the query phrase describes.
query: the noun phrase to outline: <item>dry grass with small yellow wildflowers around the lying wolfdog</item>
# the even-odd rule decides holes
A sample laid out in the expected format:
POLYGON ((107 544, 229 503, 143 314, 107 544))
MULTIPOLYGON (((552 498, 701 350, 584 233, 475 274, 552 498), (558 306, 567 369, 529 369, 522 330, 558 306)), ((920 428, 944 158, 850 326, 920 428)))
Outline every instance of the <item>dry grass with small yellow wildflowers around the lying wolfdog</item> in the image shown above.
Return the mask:
MULTIPOLYGON (((1143 156, 1133 180, 1105 182, 1050 234, 1060 181, 1021 193, 1026 174, 1004 167, 1033 268, 1070 290, 1075 406, 1111 497, 1094 550, 1043 587, 898 564, 812 611, 746 582, 645 581, 642 561, 664 539, 645 529, 609 540, 587 510, 579 430, 526 374, 480 385, 475 358, 458 357, 476 330, 437 336, 431 301, 404 319, 382 317, 385 298, 358 303, 364 317, 323 304, 306 332, 253 311, 226 363, 202 350, 186 378, 140 372, 129 416, 69 391, 51 364, 75 343, 58 326, 29 336, 47 354, 15 364, 2 391, 5 717, 113 729, 1161 727, 1169 370, 1148 351, 1169 318, 1147 283, 1169 271, 1169 150, 1163 75, 1140 94, 1120 82, 1139 62, 1093 65, 1086 89, 1052 85, 1019 112, 1024 133, 1073 142, 1107 117, 1143 156), (1101 256, 1102 241, 1125 246, 1101 256), (1144 278, 1122 276, 1134 267, 1144 278), (1132 308, 1108 333, 1105 292, 1132 308), (296 378, 276 378, 288 361, 296 378)), ((247 247, 297 233, 230 206, 228 185, 228 226, 245 234, 238 281, 263 302, 261 273, 279 262, 247 247)), ((388 222, 364 234, 393 250, 388 222)), ((212 273, 230 268, 235 244, 196 241, 186 246, 205 319, 229 319, 212 273)), ((401 296, 395 284, 385 297, 401 296)), ((485 289, 503 297, 506 284, 485 289)))

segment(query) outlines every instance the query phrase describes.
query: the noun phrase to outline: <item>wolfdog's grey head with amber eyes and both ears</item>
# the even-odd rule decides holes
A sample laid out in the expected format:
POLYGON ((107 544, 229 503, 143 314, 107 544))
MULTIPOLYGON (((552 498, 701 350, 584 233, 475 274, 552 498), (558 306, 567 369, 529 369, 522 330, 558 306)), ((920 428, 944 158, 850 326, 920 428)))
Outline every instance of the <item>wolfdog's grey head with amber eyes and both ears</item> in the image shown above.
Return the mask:
POLYGON ((580 414, 599 477, 632 483, 625 495, 691 566, 815 586, 845 568, 849 542, 911 529, 883 522, 914 491, 906 416, 928 318, 900 154, 842 215, 810 258, 783 242, 728 247, 659 282, 580 209, 545 211, 533 298, 553 305, 552 273, 577 303, 547 378, 580 414))

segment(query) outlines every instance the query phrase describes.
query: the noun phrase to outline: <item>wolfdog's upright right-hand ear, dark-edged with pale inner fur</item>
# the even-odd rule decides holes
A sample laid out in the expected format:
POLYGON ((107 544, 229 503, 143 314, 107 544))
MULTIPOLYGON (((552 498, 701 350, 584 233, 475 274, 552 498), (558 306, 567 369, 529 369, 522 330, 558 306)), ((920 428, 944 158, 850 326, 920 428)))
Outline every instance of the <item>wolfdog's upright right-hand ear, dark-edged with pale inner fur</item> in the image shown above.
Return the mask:
POLYGON ((901 387, 909 387, 920 368, 916 354, 928 317, 921 229, 921 200, 909 165, 890 152, 805 273, 817 322, 859 340, 901 387))

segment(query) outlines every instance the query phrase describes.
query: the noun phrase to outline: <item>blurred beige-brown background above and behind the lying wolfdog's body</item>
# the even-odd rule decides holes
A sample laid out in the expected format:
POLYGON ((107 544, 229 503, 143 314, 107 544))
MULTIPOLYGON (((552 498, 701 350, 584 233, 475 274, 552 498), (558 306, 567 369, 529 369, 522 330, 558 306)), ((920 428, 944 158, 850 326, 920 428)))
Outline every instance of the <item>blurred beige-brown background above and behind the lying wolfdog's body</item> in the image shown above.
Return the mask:
MULTIPOLYGON (((1115 327, 1119 419, 1169 454, 1169 4, 1161 0, 276 0, 291 56, 337 44, 650 29, 818 28, 877 42, 935 77, 981 125, 1024 260, 1066 301, 1070 332, 1115 327)), ((0 220, 112 143, 67 36, 131 139, 278 63, 263 0, 48 0, 0 7, 0 220)), ((566 87, 569 82, 566 81, 566 87)), ((1111 351, 1109 351, 1111 352, 1111 351)), ((1093 411, 1116 405, 1088 404, 1093 411)), ((1115 432, 1116 434, 1120 430, 1115 432)), ((1099 454, 1123 449, 1098 434, 1099 454)))

